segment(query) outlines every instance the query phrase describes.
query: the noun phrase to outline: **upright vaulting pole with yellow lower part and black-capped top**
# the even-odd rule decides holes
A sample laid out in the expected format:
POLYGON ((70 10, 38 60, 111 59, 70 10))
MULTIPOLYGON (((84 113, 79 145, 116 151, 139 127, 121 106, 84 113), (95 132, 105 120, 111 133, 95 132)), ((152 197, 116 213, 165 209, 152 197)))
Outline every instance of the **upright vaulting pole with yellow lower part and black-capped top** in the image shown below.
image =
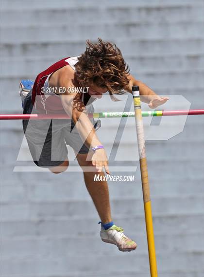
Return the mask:
POLYGON ((139 87, 132 87, 133 101, 135 109, 135 119, 136 119, 136 133, 137 133, 137 143, 139 152, 139 164, 142 180, 142 192, 144 201, 144 211, 145 211, 145 223, 147 231, 147 242, 148 242, 148 252, 150 261, 150 273, 151 277, 157 277, 157 266, 156 266, 156 252, 154 245, 154 235, 153 235, 153 218, 151 209, 151 199, 150 199, 150 186, 148 181, 148 170, 147 170, 147 159, 145 151, 145 139, 144 139, 144 128, 142 122, 142 111, 140 106, 140 96, 139 87))

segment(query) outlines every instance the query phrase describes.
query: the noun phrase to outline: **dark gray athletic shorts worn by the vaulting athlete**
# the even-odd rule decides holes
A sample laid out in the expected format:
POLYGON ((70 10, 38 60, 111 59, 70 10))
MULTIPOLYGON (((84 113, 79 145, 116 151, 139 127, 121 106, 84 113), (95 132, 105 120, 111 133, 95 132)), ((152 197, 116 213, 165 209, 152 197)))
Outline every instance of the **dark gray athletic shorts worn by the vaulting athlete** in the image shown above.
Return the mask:
MULTIPOLYGON (((33 107, 31 96, 32 91, 25 98, 23 113, 39 113, 33 107)), ((94 112, 90 106, 88 112, 94 112)), ((100 126, 100 120, 92 123, 95 129, 100 126)), ((23 120, 23 130, 34 163, 40 167, 62 164, 68 156, 67 145, 80 154, 89 151, 71 119, 23 120)))

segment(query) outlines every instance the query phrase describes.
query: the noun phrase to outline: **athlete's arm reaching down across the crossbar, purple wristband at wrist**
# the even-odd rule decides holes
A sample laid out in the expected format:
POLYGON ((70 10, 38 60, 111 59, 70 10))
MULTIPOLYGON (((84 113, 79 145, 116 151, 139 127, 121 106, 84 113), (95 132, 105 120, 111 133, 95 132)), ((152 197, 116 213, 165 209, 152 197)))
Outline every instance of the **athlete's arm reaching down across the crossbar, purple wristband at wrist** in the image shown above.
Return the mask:
MULTIPOLYGON (((72 75, 72 77, 74 77, 72 75)), ((75 127, 77 128, 80 136, 85 141, 85 145, 89 147, 95 147, 101 145, 102 143, 97 137, 96 131, 93 124, 89 120, 88 116, 82 112, 74 109, 74 97, 77 95, 77 92, 68 92, 68 88, 75 88, 72 83, 72 78, 70 78, 70 72, 66 68, 61 70, 57 78, 57 87, 66 88, 65 93, 61 93, 61 101, 64 110, 72 118, 75 127)), ((79 101, 81 101, 79 99, 79 101)), ((85 109, 84 103, 81 101, 82 107, 85 109)), ((105 150, 97 149, 92 156, 92 164, 96 166, 98 172, 102 171, 102 167, 105 168, 106 173, 109 173, 108 169, 108 160, 105 153, 105 150)))

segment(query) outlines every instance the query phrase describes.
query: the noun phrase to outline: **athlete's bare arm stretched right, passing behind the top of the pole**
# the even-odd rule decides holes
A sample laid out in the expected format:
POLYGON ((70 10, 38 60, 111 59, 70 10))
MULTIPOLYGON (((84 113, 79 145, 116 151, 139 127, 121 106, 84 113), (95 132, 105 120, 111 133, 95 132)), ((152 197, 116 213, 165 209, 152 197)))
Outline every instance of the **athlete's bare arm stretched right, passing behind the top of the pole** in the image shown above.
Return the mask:
POLYGON ((169 100, 169 97, 163 97, 157 95, 150 89, 147 85, 142 83, 141 81, 136 80, 133 75, 128 75, 129 79, 129 87, 127 89, 128 92, 132 93, 132 86, 139 86, 139 94, 142 102, 148 103, 149 107, 155 109, 156 107, 164 104, 169 100))

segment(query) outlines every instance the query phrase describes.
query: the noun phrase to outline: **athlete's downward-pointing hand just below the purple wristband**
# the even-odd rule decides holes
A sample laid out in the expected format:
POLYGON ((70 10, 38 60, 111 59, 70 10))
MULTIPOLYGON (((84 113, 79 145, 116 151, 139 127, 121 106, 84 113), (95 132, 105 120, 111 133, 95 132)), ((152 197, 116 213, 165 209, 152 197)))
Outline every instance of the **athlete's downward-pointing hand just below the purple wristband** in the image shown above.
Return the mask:
POLYGON ((97 172, 101 172, 102 168, 105 168, 105 172, 107 174, 110 174, 109 169, 108 169, 108 159, 107 159, 107 155, 105 153, 105 150, 103 148, 101 149, 97 149, 92 158, 92 165, 96 166, 96 170, 97 172))

